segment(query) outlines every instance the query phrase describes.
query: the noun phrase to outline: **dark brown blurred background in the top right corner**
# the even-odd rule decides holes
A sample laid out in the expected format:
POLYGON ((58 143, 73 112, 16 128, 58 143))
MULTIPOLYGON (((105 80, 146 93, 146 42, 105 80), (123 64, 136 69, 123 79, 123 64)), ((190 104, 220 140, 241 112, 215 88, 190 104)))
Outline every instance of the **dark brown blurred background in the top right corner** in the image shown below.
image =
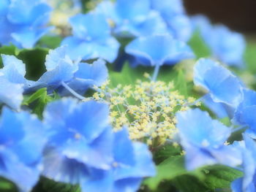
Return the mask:
POLYGON ((203 13, 214 23, 224 23, 233 30, 256 32, 255 0, 184 0, 189 15, 203 13))

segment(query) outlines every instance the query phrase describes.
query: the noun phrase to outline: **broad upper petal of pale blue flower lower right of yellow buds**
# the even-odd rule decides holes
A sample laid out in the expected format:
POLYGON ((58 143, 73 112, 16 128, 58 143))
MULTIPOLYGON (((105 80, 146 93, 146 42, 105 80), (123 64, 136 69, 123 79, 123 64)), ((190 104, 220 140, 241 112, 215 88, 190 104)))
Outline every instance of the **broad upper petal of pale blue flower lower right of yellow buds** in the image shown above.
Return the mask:
POLYGON ((178 112, 176 117, 181 142, 185 145, 216 148, 230 136, 230 128, 199 109, 178 112))

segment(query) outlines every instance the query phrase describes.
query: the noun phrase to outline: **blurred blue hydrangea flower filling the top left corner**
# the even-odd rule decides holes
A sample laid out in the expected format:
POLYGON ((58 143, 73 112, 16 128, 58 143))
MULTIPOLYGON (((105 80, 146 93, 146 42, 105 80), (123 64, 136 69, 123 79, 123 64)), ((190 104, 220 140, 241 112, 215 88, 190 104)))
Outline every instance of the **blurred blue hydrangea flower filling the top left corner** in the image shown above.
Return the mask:
POLYGON ((40 0, 3 0, 0 3, 0 44, 31 48, 50 28, 48 4, 40 0), (26 11, 24 11, 26 7, 26 11))

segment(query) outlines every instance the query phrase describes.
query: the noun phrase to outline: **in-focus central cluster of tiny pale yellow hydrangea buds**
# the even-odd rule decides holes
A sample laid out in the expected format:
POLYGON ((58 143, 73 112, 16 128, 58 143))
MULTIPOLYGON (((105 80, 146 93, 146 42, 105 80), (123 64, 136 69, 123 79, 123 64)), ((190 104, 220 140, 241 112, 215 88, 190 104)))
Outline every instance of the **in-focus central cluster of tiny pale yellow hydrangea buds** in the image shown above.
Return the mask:
POLYGON ((163 145, 176 136, 176 112, 200 105, 192 97, 185 99, 175 90, 173 82, 138 80, 135 85, 119 84, 110 88, 104 84, 94 89, 97 91, 94 99, 110 104, 114 130, 126 126, 131 139, 146 140, 154 146, 163 145))

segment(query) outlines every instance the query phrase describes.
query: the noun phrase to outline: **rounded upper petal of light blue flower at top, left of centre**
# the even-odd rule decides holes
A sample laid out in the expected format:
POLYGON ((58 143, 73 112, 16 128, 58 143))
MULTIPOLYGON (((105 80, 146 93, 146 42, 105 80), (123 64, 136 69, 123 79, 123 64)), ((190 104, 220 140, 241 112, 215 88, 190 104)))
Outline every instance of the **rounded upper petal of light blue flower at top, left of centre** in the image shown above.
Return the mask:
POLYGON ((70 18, 75 37, 86 41, 104 41, 110 36, 110 27, 104 15, 90 12, 70 18))

